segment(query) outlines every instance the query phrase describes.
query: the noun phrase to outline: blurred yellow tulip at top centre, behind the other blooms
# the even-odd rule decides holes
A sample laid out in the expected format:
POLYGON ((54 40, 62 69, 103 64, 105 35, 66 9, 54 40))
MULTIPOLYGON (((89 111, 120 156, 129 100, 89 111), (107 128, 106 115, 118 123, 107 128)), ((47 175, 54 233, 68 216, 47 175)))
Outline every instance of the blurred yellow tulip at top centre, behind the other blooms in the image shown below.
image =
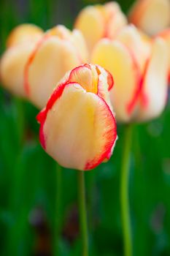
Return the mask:
POLYGON ((75 27, 82 31, 91 51, 103 37, 113 38, 127 23, 120 6, 115 2, 88 6, 77 17, 75 27))

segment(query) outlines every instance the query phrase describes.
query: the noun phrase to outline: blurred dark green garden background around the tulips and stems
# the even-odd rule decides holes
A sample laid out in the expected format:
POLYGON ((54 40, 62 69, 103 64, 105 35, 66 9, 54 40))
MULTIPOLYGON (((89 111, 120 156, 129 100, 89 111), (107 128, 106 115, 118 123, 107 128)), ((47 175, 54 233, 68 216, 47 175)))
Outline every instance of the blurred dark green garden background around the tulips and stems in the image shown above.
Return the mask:
MULTIPOLYGON (((1 0, 1 53, 9 31, 20 23, 49 29, 72 28, 77 13, 97 1, 1 0)), ((104 2, 104 1, 98 1, 104 2)), ((118 1, 124 12, 132 0, 118 1)), ((10 75, 10 74, 9 74, 10 75)), ((0 255, 53 255, 56 217, 56 164, 39 145, 32 105, 0 88, 0 255)), ((107 164, 85 173, 90 255, 123 255, 120 222, 120 164, 123 126, 107 164)), ((134 256, 170 255, 170 102, 163 115, 134 125, 130 203, 134 256)), ((61 175, 60 255, 80 256, 77 177, 61 175)))

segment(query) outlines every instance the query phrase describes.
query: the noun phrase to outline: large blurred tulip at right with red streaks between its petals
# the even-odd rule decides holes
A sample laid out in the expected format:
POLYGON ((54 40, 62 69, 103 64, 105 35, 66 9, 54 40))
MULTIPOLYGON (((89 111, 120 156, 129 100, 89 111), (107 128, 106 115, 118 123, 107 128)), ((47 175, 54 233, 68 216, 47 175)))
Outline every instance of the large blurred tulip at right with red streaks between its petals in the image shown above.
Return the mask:
POLYGON ((110 97, 117 121, 155 118, 166 105, 166 42, 146 38, 134 26, 127 26, 117 39, 101 39, 93 50, 92 62, 114 76, 115 87, 110 97))

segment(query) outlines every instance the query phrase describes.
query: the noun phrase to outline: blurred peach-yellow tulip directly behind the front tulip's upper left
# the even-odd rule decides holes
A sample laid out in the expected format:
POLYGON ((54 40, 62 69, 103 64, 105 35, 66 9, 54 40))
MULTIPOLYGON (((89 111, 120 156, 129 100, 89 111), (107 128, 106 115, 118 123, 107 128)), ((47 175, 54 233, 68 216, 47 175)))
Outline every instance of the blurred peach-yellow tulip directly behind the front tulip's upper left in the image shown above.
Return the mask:
POLYGON ((47 31, 31 53, 25 69, 25 89, 28 99, 44 108, 54 86, 69 70, 85 63, 88 51, 80 31, 56 26, 47 31))

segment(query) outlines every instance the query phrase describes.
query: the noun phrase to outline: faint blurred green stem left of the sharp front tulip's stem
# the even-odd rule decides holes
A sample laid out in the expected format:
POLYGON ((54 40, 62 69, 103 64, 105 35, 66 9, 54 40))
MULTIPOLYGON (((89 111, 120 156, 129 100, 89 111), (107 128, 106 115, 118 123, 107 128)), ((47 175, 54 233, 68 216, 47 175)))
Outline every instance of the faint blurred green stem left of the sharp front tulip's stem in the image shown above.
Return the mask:
POLYGON ((60 165, 56 165, 56 205, 55 205, 55 255, 60 255, 59 241, 61 236, 61 176, 60 165))

